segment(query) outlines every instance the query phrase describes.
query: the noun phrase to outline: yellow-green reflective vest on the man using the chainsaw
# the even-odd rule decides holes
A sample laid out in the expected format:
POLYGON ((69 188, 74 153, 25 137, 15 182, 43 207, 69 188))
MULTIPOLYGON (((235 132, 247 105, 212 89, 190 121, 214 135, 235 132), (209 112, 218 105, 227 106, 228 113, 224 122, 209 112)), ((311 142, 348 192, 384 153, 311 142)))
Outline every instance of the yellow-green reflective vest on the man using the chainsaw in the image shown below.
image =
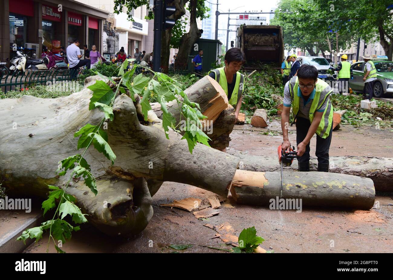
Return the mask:
MULTIPOLYGON (((299 84, 299 80, 297 76, 293 77, 289 83, 289 92, 291 97, 293 98, 292 110, 294 115, 297 115, 299 112, 300 97, 298 96, 298 84, 299 84)), ((332 93, 332 89, 329 86, 329 84, 322 81, 321 79, 317 79, 315 85, 315 95, 314 95, 314 99, 312 100, 310 113, 309 113, 310 123, 312 123, 312 120, 314 119, 315 111, 321 108, 322 104, 326 101, 329 95, 331 95, 331 93, 332 93)), ((333 124, 333 106, 329 100, 325 108, 325 111, 323 112, 316 134, 322 138, 328 137, 330 134, 330 129, 332 127, 332 124, 333 124)))

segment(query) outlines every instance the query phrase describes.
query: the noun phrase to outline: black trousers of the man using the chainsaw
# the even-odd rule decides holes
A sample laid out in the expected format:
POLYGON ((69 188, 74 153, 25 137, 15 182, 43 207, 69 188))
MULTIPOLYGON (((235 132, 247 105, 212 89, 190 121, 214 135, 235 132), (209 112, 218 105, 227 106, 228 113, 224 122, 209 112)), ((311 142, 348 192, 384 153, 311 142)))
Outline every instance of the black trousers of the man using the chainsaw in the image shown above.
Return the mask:
MULTIPOLYGON (((296 144, 299 145, 307 136, 309 128, 311 126, 310 120, 302 117, 296 118, 296 144)), ((329 136, 323 139, 317 135, 317 145, 315 150, 315 156, 318 157, 318 163, 329 163, 329 148, 332 141, 333 126, 330 128, 329 136)), ((306 146, 306 151, 303 156, 298 157, 299 162, 310 161, 310 143, 306 146)))

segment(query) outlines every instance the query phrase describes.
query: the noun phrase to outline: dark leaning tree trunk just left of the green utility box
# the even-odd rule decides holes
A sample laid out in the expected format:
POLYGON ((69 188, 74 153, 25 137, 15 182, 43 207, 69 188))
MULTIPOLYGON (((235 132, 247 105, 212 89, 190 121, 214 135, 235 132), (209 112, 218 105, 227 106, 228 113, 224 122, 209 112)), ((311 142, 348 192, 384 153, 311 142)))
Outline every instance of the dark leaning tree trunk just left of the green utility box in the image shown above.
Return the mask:
POLYGON ((196 24, 196 4, 198 0, 190 0, 190 30, 180 38, 180 48, 175 60, 175 69, 187 69, 188 55, 194 48, 194 44, 201 37, 202 32, 196 24))

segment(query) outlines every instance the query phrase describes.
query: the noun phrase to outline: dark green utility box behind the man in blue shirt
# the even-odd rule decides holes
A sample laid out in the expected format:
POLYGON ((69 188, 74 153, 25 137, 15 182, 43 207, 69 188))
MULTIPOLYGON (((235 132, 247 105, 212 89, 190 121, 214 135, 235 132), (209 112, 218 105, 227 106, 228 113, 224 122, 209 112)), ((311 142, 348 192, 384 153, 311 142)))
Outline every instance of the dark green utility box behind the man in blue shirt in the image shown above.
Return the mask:
POLYGON ((193 59, 196 55, 198 55, 198 50, 203 49, 202 73, 206 73, 211 70, 211 64, 217 61, 218 57, 221 55, 222 43, 220 40, 200 38, 195 44, 194 49, 188 57, 188 70, 194 71, 193 59), (195 46, 195 44, 197 44, 197 46, 195 46))

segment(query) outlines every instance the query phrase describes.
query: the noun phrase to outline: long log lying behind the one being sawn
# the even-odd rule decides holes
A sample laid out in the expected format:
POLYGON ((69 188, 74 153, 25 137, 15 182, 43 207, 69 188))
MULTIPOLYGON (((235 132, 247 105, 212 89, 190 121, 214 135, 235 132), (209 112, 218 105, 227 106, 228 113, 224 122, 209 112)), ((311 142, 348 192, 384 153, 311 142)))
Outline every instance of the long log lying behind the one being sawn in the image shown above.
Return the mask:
MULTIPOLYGON (((239 168, 242 170, 268 172, 280 171, 281 168, 278 158, 275 156, 237 156, 241 160, 239 168)), ((318 161, 312 159, 310 161, 310 170, 317 170, 317 167, 318 161)), ((298 161, 294 160, 291 166, 283 168, 285 170, 298 170, 298 161)), ((374 182, 376 191, 393 192, 393 158, 367 156, 330 157, 329 172, 370 178, 374 182)))

